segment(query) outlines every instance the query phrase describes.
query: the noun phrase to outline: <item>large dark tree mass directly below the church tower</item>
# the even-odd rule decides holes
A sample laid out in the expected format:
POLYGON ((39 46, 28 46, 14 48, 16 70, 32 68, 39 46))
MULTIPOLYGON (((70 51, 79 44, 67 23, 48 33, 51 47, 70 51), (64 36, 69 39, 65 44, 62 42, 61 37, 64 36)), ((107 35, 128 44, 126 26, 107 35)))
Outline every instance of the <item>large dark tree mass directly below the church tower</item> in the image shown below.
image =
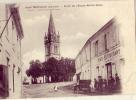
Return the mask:
POLYGON ((71 81, 76 72, 75 60, 70 58, 57 60, 52 57, 43 65, 44 74, 48 79, 51 77, 52 82, 71 81))

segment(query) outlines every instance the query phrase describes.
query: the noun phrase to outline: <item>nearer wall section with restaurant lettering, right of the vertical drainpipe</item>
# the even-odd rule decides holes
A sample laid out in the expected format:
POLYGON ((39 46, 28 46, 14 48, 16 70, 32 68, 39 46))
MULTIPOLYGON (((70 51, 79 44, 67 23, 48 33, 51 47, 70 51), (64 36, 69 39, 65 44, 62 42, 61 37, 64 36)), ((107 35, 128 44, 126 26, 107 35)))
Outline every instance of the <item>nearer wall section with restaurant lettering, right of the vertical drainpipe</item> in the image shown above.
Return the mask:
POLYGON ((117 23, 114 21, 108 26, 105 26, 99 34, 92 39, 91 42, 91 68, 92 68, 92 80, 102 76, 107 79, 107 68, 106 64, 112 62, 112 74, 118 73, 120 75, 119 61, 123 59, 121 55, 121 47, 119 40, 119 29, 117 23), (104 36, 107 35, 107 50, 105 50, 104 36), (95 42, 98 42, 98 55, 95 55, 95 42), (116 66, 116 67, 115 67, 116 66), (99 70, 99 71, 98 71, 99 70), (96 72, 96 73, 94 73, 96 72))

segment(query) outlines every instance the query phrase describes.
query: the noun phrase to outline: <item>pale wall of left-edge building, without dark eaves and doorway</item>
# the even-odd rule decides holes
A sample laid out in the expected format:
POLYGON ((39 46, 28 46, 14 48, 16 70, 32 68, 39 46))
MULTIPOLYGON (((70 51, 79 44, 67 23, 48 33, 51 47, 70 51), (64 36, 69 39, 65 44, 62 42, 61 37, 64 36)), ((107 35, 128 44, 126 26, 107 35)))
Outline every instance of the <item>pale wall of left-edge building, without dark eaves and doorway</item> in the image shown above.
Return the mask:
MULTIPOLYGON (((6 5, 1 4, 0 10, 3 11, 2 20, 7 20, 10 16, 10 11, 6 5), (5 15, 5 16, 4 16, 5 15)), ((6 21, 3 23, 5 25, 6 21)), ((0 53, 0 64, 8 67, 6 73, 8 77, 9 98, 21 96, 21 40, 13 18, 11 17, 9 23, 0 39, 2 44, 0 53), (9 59, 9 63, 7 62, 9 59)))

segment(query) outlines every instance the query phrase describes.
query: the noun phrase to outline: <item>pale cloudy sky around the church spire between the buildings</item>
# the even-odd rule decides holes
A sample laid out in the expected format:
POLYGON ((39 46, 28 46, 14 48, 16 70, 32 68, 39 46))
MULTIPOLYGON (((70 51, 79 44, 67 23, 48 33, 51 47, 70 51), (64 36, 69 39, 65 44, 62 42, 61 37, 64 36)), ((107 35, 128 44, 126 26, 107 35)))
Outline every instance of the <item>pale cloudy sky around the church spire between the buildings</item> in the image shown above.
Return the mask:
MULTIPOLYGON (((91 3, 95 4, 95 3, 91 3)), ((75 58, 87 39, 106 24, 114 13, 107 5, 90 7, 64 7, 65 3, 21 3, 20 15, 24 30, 22 58, 24 72, 31 60, 45 59, 44 35, 48 29, 50 9, 52 9, 56 31, 60 34, 62 57, 75 58), (46 6, 55 8, 45 8, 46 6), (43 8, 32 8, 40 6, 43 8)), ((73 5, 73 3, 67 3, 73 5)), ((78 4, 74 4, 78 5, 78 4)))

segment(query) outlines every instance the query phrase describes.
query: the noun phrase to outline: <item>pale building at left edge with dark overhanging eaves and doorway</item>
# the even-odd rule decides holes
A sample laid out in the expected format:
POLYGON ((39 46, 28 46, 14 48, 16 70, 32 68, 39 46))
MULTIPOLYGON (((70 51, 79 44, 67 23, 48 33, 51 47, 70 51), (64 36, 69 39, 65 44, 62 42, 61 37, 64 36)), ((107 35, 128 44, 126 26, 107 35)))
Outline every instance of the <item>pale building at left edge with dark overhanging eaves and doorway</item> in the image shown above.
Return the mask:
POLYGON ((15 4, 0 5, 0 94, 21 96, 21 40, 23 30, 19 9, 15 4))

